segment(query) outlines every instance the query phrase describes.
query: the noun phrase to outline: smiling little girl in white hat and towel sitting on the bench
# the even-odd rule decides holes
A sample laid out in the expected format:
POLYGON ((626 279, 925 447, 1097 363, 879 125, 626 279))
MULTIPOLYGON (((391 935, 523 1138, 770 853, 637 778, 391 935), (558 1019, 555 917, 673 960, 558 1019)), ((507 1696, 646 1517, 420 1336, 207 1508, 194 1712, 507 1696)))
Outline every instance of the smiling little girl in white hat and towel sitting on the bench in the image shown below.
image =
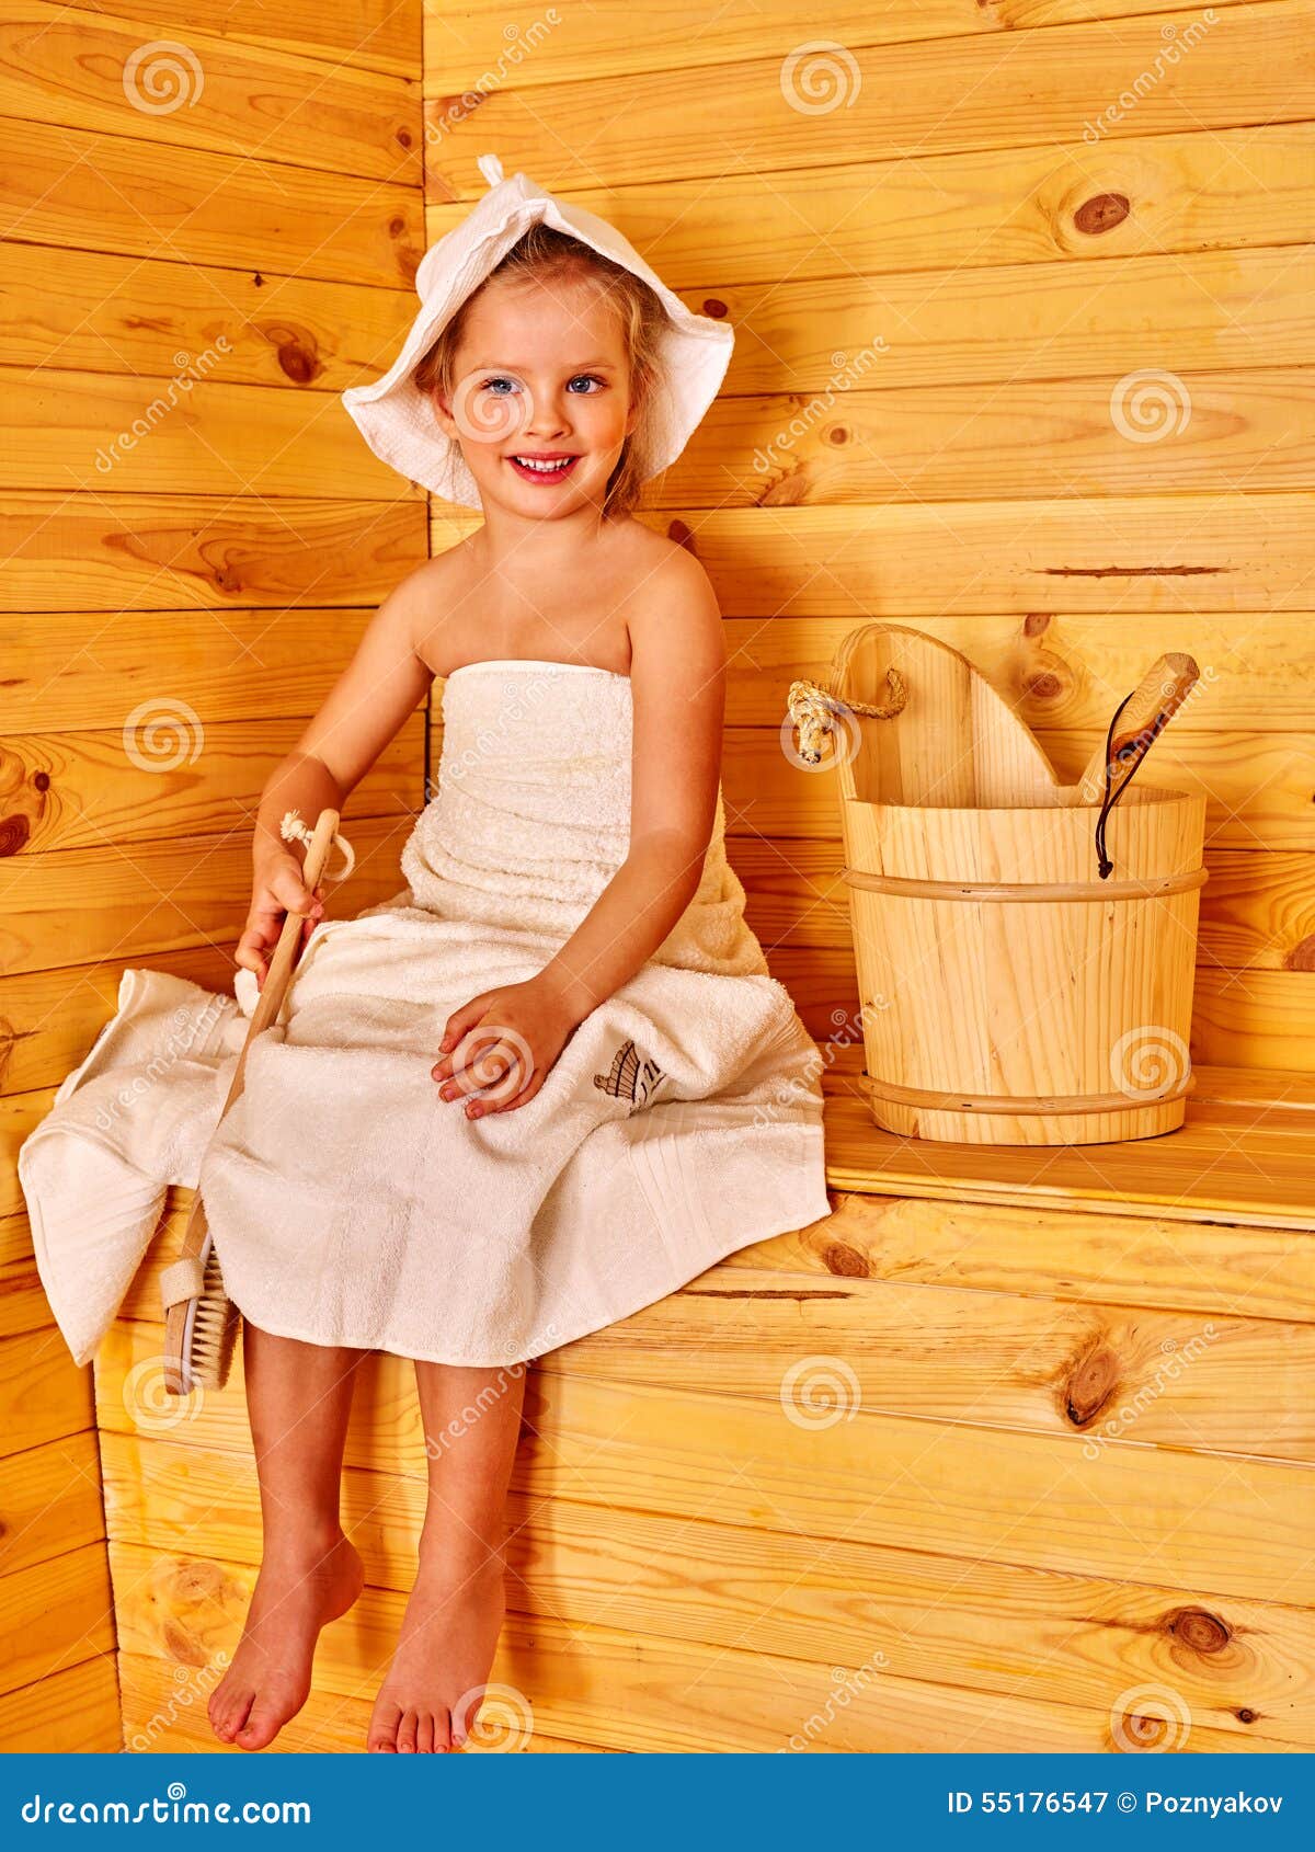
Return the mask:
POLYGON ((317 1635, 363 1585, 339 1482, 370 1348, 415 1358, 443 1445, 367 1746, 443 1752, 504 1619, 526 1359, 830 1209, 817 1050, 724 859, 717 598, 632 515, 730 330, 604 220, 480 165, 491 193, 426 256, 402 357, 348 406, 483 526, 385 598, 265 787, 237 965, 263 982, 287 911, 307 943, 283 1037, 252 1046, 202 1167, 265 1528, 209 1702, 243 1748, 306 1702, 317 1635), (443 761, 409 889, 317 924, 278 822, 343 809, 433 678, 443 761), (319 1093, 326 1061, 339 1085, 319 1093))

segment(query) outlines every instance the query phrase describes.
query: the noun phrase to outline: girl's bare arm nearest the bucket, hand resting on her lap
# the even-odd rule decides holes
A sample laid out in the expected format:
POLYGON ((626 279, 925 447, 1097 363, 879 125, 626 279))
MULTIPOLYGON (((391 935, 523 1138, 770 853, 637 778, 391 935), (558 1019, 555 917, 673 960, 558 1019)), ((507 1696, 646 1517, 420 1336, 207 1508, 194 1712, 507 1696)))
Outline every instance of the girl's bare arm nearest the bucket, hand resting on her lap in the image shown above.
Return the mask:
POLYGON ((476 1070, 493 1087, 489 1104, 467 1098, 469 1117, 528 1104, 570 1032, 658 950, 698 889, 717 811, 726 643, 713 587, 689 554, 672 554, 648 580, 630 646, 626 859, 535 978, 485 991, 448 1019, 432 1070, 443 1098, 469 1095, 476 1070), (476 1024, 482 1033, 456 1069, 452 1052, 476 1024))

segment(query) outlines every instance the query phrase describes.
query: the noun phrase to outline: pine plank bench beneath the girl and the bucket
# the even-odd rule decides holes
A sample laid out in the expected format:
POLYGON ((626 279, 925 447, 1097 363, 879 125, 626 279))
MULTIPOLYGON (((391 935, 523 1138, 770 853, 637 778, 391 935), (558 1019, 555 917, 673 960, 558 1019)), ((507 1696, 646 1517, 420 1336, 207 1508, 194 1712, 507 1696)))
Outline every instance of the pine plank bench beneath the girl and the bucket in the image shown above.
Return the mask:
MULTIPOLYGON (((532 1372, 489 1746, 1315 1746, 1311 1083, 1204 1074, 1182 1133, 1083 1152, 900 1146, 856 1083, 832 1217, 532 1372)), ((159 1389, 183 1206, 96 1367, 143 1752, 217 1748, 259 1561, 241 1370, 159 1389)), ((376 1356, 369 1587, 280 1746, 363 1741, 422 1504, 411 1370, 376 1356)))

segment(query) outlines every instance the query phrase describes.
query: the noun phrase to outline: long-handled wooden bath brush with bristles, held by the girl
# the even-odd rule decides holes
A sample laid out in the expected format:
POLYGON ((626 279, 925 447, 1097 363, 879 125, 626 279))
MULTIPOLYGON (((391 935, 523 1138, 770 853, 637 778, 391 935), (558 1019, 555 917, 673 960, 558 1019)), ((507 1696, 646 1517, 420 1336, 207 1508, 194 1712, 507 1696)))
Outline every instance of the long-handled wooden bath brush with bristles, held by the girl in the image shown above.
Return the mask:
MULTIPOLYGON (((339 813, 320 811, 315 830, 307 830, 296 811, 289 811, 280 824, 283 841, 298 839, 306 843, 306 861, 302 863, 302 882, 315 893, 330 850, 337 846, 346 856, 346 865, 335 880, 343 882, 352 872, 356 857, 348 843, 337 833, 339 813)), ((283 1007, 293 967, 302 946, 304 913, 289 913, 278 935, 274 957, 269 961, 259 1000, 252 1011, 246 1041, 237 1056, 237 1069, 224 1100, 220 1120, 233 1100, 243 1091, 246 1074, 246 1052, 254 1039, 276 1020, 283 1007)), ((183 1230, 180 1258, 159 1276, 159 1296, 165 1308, 165 1389, 169 1395, 191 1395, 193 1389, 222 1389, 233 1363, 237 1345, 237 1326, 241 1313, 224 1291, 224 1276, 219 1269, 219 1256, 211 1241, 206 1208, 200 1187, 193 1196, 191 1215, 183 1230)))

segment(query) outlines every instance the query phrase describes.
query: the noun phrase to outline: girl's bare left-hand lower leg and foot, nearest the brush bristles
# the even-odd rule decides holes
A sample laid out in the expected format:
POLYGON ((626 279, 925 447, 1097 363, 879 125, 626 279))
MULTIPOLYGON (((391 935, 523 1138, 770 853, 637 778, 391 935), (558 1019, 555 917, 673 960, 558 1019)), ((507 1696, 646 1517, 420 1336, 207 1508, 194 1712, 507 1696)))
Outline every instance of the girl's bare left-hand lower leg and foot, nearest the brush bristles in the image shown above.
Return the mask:
POLYGON ((265 1748, 311 1689, 315 1641, 361 1593, 361 1559, 339 1524, 356 1367, 339 1350, 243 1328, 265 1545, 233 1663, 209 1698, 215 1735, 265 1748))

